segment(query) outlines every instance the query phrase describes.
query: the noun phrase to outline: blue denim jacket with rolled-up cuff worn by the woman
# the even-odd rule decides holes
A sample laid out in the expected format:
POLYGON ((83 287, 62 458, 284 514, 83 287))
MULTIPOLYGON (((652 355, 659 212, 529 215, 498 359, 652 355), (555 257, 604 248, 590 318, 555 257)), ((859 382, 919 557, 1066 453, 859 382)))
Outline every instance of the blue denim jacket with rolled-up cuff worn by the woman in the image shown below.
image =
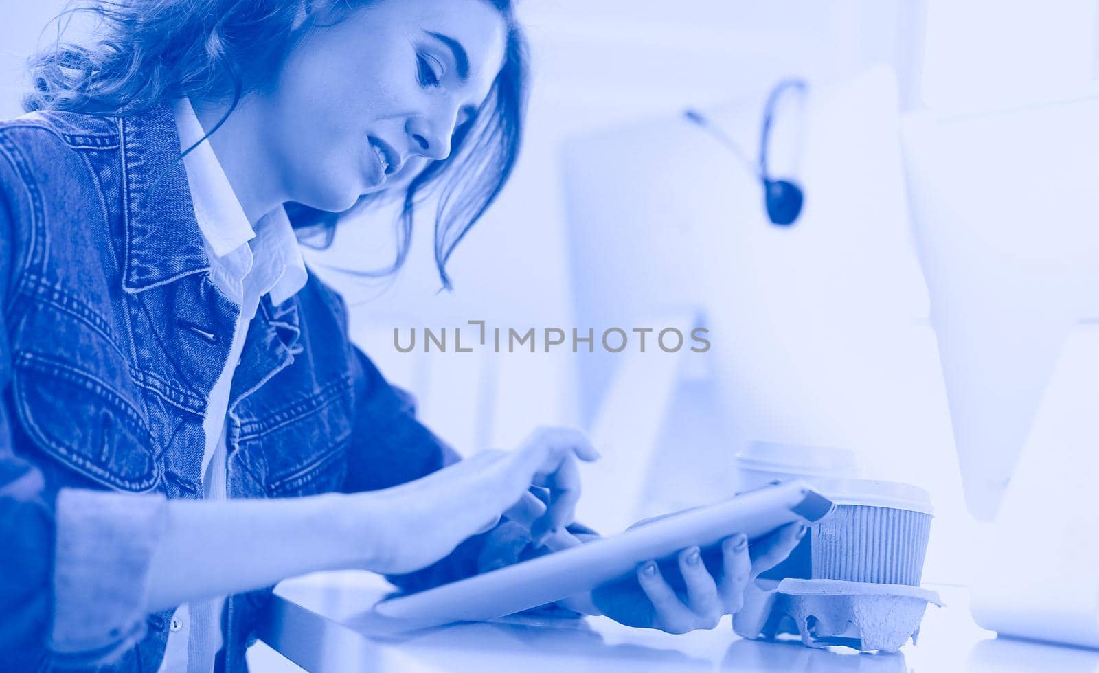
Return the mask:
MULTIPOLYGON (((170 610, 129 618, 133 597, 116 594, 136 591, 152 547, 155 517, 138 504, 201 497, 202 419, 235 310, 210 280, 178 155, 166 104, 0 123, 0 659, 13 670, 155 671, 163 658, 170 610), (97 505, 97 490, 147 495, 97 505), (58 519, 59 493, 76 499, 74 520, 58 519), (55 577, 55 545, 71 544, 58 531, 97 526, 112 507, 122 528, 90 539, 118 549, 127 576, 55 577), (120 607, 92 605, 104 597, 120 607), (60 603, 120 627, 74 648, 58 633, 74 618, 54 614, 60 603)), ((344 302, 313 275, 281 305, 264 297, 226 423, 231 497, 377 489, 457 460, 352 344, 344 302)), ((506 521, 391 580, 417 591, 514 562, 529 543, 506 521)), ((245 669, 269 595, 226 603, 220 666, 245 669)))

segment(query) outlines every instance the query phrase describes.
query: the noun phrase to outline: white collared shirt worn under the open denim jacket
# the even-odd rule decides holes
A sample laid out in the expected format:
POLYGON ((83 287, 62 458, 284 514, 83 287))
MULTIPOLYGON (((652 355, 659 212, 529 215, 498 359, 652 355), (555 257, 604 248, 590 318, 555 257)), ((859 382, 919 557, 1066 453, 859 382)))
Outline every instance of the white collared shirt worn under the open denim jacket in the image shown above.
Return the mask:
MULTIPOLYGON (((186 150, 204 134, 201 123, 186 99, 176 101, 176 126, 186 150)), ((260 218, 253 229, 233 192, 210 143, 203 142, 184 157, 190 186, 195 218, 206 242, 210 260, 210 279, 222 294, 240 307, 229 358, 210 391, 202 422, 206 446, 202 453, 202 488, 208 499, 227 497, 225 486, 225 417, 233 373, 240 364, 248 324, 256 315, 259 298, 270 294, 281 304, 306 284, 306 264, 298 240, 282 208, 260 218)), ((173 615, 162 673, 210 673, 214 655, 222 648, 221 613, 225 596, 192 602, 173 615)))

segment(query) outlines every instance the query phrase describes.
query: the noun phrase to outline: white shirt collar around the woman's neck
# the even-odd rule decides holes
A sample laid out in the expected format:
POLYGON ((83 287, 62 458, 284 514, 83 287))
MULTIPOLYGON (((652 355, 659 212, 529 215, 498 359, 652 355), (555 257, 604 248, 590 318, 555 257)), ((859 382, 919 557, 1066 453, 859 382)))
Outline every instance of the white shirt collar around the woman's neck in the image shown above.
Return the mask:
MULTIPOLYGON (((174 112, 180 148, 186 150, 206 132, 186 98, 175 102, 174 112)), ((184 167, 195 219, 211 253, 215 277, 219 273, 236 280, 251 276, 259 284, 259 296, 270 293, 276 305, 296 295, 306 285, 308 273, 286 210, 276 208, 253 229, 209 142, 191 150, 184 157, 184 167)))

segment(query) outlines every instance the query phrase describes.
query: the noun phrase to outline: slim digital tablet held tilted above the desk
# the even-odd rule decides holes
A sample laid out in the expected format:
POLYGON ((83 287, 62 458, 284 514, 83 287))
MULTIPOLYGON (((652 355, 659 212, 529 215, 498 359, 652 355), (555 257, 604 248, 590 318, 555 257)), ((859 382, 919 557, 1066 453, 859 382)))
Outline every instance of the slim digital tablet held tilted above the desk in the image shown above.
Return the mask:
POLYGON ((831 511, 832 501, 804 482, 776 483, 618 536, 389 598, 375 613, 410 628, 497 619, 589 592, 688 547, 706 549, 739 532, 756 540, 787 523, 819 521, 831 511))

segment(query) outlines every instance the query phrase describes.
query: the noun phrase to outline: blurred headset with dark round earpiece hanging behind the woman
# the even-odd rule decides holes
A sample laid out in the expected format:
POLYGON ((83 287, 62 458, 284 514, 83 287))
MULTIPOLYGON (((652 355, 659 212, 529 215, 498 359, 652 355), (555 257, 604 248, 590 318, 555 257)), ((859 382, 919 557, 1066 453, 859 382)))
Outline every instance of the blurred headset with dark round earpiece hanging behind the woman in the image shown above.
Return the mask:
POLYGON ((799 78, 782 79, 771 88, 767 96, 767 103, 763 111, 763 129, 759 133, 759 158, 753 163, 741 151, 740 146, 733 142, 729 135, 719 129, 713 122, 707 119, 701 112, 695 109, 684 111, 684 117, 688 121, 701 126, 711 135, 717 137, 723 145, 729 147, 747 167, 754 173, 763 185, 763 200, 767 207, 767 217, 771 223, 781 227, 789 227, 797 221, 801 214, 801 207, 804 205, 806 195, 801 187, 792 179, 775 179, 767 170, 767 150, 770 145, 770 126, 775 121, 775 109, 782 93, 786 91, 797 91, 804 95, 808 89, 806 80, 799 78))

